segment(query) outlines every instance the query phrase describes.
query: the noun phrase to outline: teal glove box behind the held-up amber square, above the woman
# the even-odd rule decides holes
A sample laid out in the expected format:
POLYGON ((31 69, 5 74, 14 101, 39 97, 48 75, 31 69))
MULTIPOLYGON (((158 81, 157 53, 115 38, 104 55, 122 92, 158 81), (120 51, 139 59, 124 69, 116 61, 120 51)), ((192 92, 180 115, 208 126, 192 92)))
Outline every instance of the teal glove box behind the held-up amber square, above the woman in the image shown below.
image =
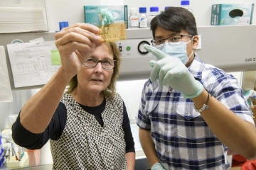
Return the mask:
POLYGON ((106 26, 124 22, 128 28, 127 5, 124 6, 84 6, 85 23, 94 26, 106 26))

